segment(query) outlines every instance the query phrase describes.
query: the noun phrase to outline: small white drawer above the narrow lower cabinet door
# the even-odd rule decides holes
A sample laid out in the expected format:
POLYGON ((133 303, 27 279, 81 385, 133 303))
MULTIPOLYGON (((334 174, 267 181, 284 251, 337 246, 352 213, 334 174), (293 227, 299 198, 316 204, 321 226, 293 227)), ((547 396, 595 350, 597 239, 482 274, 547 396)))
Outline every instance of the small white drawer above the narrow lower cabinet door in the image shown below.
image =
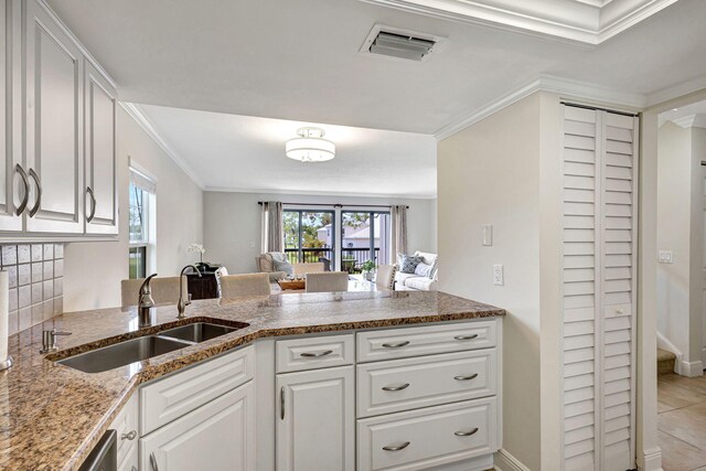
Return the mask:
POLYGON ((352 365, 353 334, 279 340, 277 373, 352 365))

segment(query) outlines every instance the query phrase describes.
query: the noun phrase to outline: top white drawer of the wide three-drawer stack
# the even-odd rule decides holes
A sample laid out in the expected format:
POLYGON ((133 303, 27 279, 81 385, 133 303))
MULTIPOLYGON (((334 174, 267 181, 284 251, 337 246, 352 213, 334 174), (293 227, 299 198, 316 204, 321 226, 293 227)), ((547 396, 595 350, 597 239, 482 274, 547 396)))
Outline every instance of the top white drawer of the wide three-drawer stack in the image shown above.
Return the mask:
POLYGON ((457 322, 357 333, 357 361, 403 358, 495 346, 496 321, 457 322))

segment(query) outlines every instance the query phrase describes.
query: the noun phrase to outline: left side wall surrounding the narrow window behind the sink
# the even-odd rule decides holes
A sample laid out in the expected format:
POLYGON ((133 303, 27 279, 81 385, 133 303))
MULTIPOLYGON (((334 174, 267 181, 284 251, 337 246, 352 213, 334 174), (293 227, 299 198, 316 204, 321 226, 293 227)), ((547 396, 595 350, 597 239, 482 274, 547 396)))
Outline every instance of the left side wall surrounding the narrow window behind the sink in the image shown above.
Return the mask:
POLYGON ((203 240, 203 192, 118 108, 118 194, 120 237, 117 242, 72 243, 64 253, 64 311, 120 306, 120 280, 128 277, 128 160, 157 178, 157 266, 160 276, 178 275, 195 261, 186 253, 203 240))

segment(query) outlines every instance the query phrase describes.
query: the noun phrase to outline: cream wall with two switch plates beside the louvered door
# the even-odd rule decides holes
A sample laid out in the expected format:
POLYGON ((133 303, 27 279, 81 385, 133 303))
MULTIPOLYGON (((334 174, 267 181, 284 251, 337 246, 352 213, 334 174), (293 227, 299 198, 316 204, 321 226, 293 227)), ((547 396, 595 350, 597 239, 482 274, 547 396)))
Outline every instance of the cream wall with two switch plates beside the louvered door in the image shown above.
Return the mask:
POLYGON ((439 142, 437 152, 439 287, 507 310, 503 448, 533 470, 543 469, 539 104, 534 94, 439 142), (482 245, 483 224, 493 225, 491 247, 482 245), (493 286, 494 264, 504 265, 502 287, 493 286))

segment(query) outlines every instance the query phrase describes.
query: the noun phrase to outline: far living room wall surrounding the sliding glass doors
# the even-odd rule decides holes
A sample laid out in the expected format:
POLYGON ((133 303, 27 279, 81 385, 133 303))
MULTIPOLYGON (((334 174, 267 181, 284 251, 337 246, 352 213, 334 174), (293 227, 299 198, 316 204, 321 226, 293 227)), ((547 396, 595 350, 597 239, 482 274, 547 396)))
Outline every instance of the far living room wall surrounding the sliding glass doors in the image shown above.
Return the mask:
POLYGON ((228 272, 255 271, 255 257, 260 254, 260 206, 258 201, 320 204, 408 205, 410 251, 436 251, 436 200, 321 196, 301 194, 259 194, 205 192, 203 199, 204 260, 223 264, 228 272))

